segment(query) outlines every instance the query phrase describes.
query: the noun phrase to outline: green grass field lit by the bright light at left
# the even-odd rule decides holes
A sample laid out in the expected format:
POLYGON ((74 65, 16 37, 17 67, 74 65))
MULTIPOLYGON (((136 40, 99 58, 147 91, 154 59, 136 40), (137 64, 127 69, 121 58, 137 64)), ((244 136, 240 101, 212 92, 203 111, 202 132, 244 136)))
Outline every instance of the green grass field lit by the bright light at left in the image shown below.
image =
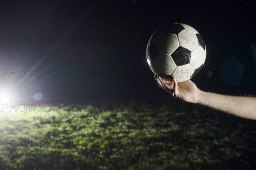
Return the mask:
POLYGON ((255 121, 175 99, 106 108, 65 104, 55 111, 1 113, 1 169, 256 167, 255 121))

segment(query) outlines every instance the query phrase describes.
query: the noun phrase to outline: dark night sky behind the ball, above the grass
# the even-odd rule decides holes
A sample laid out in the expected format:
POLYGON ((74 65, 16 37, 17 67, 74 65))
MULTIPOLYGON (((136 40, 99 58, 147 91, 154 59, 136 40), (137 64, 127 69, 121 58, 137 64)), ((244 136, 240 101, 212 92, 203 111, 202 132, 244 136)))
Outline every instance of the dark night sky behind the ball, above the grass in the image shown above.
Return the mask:
POLYGON ((192 78, 200 89, 256 93, 256 60, 250 53, 250 45, 256 42, 255 1, 11 2, 1 0, 1 69, 44 71, 41 78, 1 78, 2 87, 13 87, 24 100, 36 92, 44 95, 45 102, 170 96, 158 87, 145 56, 151 34, 168 23, 186 23, 204 38, 207 59, 192 78), (17 42, 9 36, 16 36, 17 42), (41 39, 35 37, 44 40, 39 43, 41 39), (244 65, 238 87, 221 82, 218 76, 218 65, 231 55, 244 65), (211 78, 206 76, 209 70, 211 78))

